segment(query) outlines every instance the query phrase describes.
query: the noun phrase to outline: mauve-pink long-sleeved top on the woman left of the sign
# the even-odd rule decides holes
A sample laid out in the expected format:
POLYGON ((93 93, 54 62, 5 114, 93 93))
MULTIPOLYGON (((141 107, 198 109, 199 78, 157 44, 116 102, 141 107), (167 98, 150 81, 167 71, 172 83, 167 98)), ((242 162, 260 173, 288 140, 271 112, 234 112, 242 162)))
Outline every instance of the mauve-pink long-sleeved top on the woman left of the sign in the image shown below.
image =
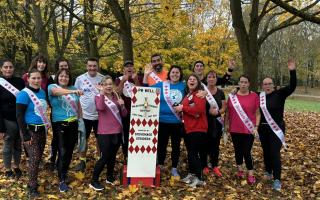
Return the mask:
MULTIPOLYGON (((104 102, 104 95, 97 95, 95 96, 95 103, 98 111, 98 134, 119 134, 122 133, 122 127, 119 124, 117 118, 113 115, 110 108, 105 104, 104 102)), ((125 117, 127 115, 127 110, 125 107, 123 109, 118 104, 117 98, 113 96, 112 99, 118 106, 118 109, 120 111, 120 115, 122 117, 125 117)))

